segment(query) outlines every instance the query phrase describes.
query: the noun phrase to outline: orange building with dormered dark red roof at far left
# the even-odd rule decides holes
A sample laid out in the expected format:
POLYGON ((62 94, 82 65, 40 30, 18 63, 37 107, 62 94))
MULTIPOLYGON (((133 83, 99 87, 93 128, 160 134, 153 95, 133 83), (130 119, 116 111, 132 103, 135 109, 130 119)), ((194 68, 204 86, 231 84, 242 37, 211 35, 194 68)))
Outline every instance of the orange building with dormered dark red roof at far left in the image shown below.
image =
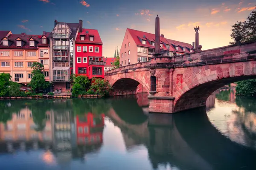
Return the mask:
POLYGON ((32 78, 33 62, 41 62, 45 79, 49 81, 49 33, 28 35, 9 31, 3 36, 3 32, 6 31, 0 31, 3 37, 0 42, 0 73, 9 73, 12 81, 26 85, 32 78))

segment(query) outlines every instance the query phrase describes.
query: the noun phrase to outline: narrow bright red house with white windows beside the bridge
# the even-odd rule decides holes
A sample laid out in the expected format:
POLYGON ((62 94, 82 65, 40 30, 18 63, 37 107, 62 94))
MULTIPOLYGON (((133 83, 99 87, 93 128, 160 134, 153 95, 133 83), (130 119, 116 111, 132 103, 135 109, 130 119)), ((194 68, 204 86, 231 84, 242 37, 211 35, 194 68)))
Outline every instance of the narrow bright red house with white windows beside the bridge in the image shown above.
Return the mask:
POLYGON ((75 73, 104 78, 104 61, 102 57, 102 40, 96 29, 83 28, 75 41, 75 73))

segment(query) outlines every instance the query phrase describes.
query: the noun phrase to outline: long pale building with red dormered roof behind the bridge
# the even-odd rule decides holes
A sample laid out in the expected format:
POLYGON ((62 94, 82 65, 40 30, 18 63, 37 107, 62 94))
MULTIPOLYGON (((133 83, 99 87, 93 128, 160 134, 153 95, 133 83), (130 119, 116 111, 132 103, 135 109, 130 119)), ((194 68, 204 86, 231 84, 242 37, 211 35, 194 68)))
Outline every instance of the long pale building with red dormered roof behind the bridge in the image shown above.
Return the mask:
MULTIPOLYGON (((138 60, 148 61, 154 54, 154 44, 155 34, 127 28, 120 49, 120 65, 135 64, 138 60)), ((167 56, 172 56, 174 51, 177 55, 182 55, 195 50, 191 44, 167 39, 163 34, 160 36, 160 47, 167 56)))

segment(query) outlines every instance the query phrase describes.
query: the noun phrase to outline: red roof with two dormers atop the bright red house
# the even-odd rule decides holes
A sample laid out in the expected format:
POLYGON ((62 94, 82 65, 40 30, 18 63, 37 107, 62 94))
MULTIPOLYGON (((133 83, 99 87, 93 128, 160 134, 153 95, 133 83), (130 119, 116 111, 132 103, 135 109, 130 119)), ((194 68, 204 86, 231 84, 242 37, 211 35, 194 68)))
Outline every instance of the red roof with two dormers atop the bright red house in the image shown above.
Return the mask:
POLYGON ((82 32, 78 33, 76 37, 76 43, 92 43, 92 44, 103 44, 99 36, 99 32, 96 29, 83 28, 82 32), (81 36, 84 36, 84 40, 81 40, 81 36), (93 36, 93 41, 90 41, 90 36, 93 36))

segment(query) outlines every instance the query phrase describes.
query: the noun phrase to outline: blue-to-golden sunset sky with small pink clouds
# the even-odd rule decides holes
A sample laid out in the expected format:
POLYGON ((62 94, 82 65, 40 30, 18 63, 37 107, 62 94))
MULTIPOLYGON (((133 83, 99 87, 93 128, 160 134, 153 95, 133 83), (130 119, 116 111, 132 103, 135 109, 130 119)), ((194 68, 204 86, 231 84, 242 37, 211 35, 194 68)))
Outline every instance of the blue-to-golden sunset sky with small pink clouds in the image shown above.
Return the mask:
POLYGON ((200 26, 202 50, 229 45, 231 25, 244 21, 255 0, 1 0, 0 30, 13 34, 50 32, 54 20, 79 23, 97 29, 103 56, 113 57, 122 45, 126 28, 154 34, 160 17, 160 34, 192 44, 195 26, 200 26))

